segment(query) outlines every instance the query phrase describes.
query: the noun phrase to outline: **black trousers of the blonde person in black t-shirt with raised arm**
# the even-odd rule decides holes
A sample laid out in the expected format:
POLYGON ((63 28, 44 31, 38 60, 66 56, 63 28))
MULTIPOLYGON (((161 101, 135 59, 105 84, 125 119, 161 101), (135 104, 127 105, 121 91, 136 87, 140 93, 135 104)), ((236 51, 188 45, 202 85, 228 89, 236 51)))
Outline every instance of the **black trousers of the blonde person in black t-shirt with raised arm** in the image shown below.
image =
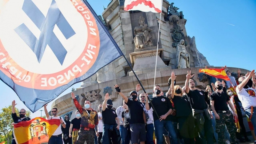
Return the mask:
POLYGON ((195 123, 192 114, 190 116, 177 117, 179 123, 180 135, 185 144, 194 144, 195 123))

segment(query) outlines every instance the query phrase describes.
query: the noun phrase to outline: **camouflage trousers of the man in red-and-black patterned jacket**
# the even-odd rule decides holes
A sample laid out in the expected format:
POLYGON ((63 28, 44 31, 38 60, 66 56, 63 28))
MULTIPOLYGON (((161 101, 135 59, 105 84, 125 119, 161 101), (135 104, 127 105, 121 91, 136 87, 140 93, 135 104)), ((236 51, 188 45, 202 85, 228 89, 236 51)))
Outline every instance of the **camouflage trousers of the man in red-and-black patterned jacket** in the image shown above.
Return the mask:
POLYGON ((94 136, 94 131, 86 131, 84 129, 80 129, 78 132, 76 144, 84 144, 85 141, 88 144, 94 144, 94 136))

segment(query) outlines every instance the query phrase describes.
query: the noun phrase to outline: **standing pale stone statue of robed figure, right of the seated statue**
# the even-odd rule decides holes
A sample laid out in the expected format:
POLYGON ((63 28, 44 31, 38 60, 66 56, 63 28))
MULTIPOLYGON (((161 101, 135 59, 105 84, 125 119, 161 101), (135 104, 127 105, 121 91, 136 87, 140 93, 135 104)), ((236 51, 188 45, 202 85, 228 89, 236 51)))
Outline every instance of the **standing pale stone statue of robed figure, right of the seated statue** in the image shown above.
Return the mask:
POLYGON ((186 50, 184 39, 180 40, 180 43, 177 45, 177 68, 190 68, 190 55, 186 50))

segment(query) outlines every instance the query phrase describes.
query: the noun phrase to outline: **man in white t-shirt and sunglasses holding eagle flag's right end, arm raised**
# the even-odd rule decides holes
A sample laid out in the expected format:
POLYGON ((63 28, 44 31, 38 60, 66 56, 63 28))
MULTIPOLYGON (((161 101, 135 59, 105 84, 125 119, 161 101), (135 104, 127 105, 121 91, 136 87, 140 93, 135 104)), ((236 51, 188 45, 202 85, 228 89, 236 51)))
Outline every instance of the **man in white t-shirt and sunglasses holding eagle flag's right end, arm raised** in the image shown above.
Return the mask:
MULTIPOLYGON (((46 106, 47 106, 47 104, 44 105, 44 112, 45 112, 46 119, 48 119, 48 120, 50 120, 50 119, 60 119, 60 124, 62 125, 63 128, 66 128, 66 123, 65 123, 64 119, 60 116, 57 116, 58 109, 53 107, 52 108, 52 116, 49 116, 49 114, 47 112, 47 109, 46 109, 46 106)), ((51 138, 48 141, 48 144, 63 144, 61 125, 59 125, 59 127, 52 134, 51 138)))

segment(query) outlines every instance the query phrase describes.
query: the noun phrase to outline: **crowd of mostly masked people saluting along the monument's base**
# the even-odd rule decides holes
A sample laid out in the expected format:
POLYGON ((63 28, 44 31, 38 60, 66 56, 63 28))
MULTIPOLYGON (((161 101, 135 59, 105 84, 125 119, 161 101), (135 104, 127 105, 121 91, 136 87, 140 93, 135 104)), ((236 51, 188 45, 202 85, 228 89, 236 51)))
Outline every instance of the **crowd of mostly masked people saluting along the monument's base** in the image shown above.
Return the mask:
MULTIPOLYGON (((226 73, 230 81, 213 78, 215 82, 203 91, 196 88, 191 71, 186 75, 184 87, 175 84, 176 76, 172 72, 165 96, 161 87, 155 85, 150 100, 148 93, 139 93, 139 84, 135 91, 130 92, 130 98, 115 85, 124 99, 123 105, 113 108, 107 93, 98 107, 99 112, 91 108, 89 100, 85 100, 83 108, 72 92, 77 111, 71 122, 68 115, 64 119, 57 116, 55 107, 49 116, 44 105, 46 118, 60 119, 61 123, 48 143, 163 144, 165 140, 167 144, 234 144, 251 141, 246 135, 242 111, 252 122, 253 134, 256 135, 254 70, 245 76, 238 71, 238 80, 231 76, 230 71, 226 73)), ((15 101, 12 106, 15 107, 15 101)), ((16 116, 15 110, 12 111, 13 121, 30 120, 23 115, 24 111, 20 110, 20 117, 16 116)))

